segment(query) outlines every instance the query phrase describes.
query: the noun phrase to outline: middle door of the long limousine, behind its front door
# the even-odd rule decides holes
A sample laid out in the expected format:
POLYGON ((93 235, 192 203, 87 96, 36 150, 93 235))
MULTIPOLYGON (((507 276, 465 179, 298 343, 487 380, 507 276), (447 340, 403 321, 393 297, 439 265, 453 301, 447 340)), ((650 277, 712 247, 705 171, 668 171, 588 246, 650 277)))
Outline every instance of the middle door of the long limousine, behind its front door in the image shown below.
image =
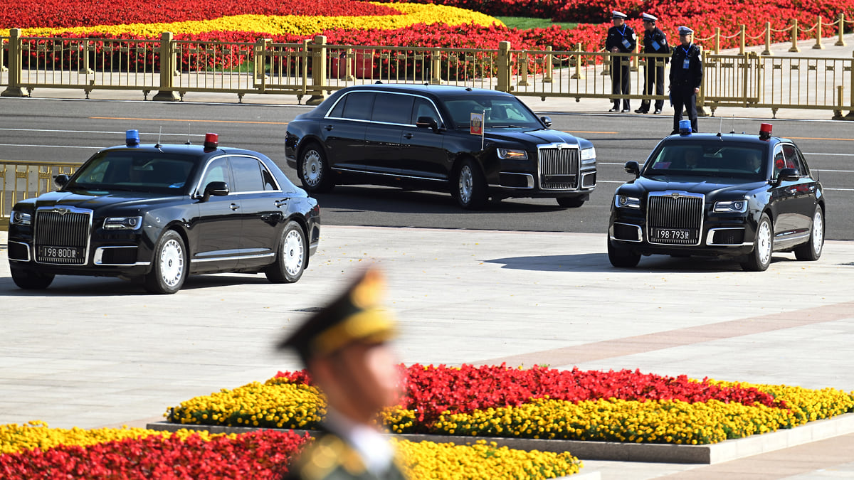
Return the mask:
POLYGON ((371 173, 401 173, 401 130, 409 123, 412 95, 378 92, 365 132, 365 165, 371 173))

